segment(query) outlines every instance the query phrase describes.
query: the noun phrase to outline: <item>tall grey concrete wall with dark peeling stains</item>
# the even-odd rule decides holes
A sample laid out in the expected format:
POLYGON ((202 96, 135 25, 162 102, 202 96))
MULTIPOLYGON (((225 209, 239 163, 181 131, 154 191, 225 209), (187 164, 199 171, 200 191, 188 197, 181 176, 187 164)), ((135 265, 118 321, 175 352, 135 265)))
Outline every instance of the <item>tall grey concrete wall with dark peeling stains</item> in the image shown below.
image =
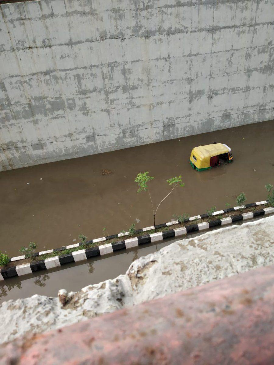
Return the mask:
POLYGON ((273 119, 273 0, 0 9, 2 170, 273 119))

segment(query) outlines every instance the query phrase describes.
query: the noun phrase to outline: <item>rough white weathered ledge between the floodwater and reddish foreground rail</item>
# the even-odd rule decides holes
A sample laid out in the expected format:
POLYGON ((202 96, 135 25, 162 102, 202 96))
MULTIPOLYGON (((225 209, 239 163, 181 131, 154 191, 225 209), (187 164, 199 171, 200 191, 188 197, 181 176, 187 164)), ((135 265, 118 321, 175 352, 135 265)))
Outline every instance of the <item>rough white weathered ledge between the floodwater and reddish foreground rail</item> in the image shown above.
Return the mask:
POLYGON ((1 342, 80 322, 274 260, 274 216, 179 240, 134 261, 125 275, 58 298, 34 295, 0 306, 1 342))

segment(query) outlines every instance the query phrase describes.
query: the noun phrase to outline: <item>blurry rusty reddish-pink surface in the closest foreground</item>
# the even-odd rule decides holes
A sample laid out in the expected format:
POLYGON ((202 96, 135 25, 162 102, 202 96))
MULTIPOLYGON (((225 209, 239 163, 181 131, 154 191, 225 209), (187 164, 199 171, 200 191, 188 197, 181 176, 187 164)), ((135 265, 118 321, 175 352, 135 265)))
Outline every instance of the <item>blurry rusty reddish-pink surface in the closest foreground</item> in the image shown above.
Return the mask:
POLYGON ((0 349, 0 364, 274 364, 274 266, 0 349))

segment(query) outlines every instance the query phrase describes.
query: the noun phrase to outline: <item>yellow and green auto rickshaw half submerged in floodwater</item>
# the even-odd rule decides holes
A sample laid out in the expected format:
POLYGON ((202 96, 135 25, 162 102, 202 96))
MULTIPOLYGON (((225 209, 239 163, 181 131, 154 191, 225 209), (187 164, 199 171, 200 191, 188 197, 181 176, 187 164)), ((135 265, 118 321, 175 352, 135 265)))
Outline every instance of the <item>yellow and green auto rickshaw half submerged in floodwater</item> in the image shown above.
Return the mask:
POLYGON ((194 170, 202 171, 233 161, 231 148, 225 143, 194 147, 190 155, 190 165, 194 170))

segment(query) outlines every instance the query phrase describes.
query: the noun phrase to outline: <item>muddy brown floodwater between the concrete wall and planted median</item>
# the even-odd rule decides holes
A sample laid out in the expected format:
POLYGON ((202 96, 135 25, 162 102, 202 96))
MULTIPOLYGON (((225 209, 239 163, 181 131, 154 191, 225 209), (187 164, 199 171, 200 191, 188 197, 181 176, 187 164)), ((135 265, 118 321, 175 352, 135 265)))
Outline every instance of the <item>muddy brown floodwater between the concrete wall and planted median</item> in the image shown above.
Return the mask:
POLYGON ((182 175, 185 183, 161 205, 156 224, 170 221, 174 213, 196 215, 213 205, 217 210, 225 203, 236 205, 240 192, 248 202, 266 199, 264 186, 274 183, 273 141, 274 122, 268 121, 1 172, 0 250, 16 256, 30 241, 42 251, 78 242, 79 233, 92 239, 132 223, 136 229, 151 226, 148 194, 137 194, 134 183, 144 171, 155 177, 150 183, 155 205, 169 191, 168 178, 182 175), (213 142, 229 145, 234 162, 194 171, 191 149, 213 142), (102 175, 102 170, 112 173, 102 175))

